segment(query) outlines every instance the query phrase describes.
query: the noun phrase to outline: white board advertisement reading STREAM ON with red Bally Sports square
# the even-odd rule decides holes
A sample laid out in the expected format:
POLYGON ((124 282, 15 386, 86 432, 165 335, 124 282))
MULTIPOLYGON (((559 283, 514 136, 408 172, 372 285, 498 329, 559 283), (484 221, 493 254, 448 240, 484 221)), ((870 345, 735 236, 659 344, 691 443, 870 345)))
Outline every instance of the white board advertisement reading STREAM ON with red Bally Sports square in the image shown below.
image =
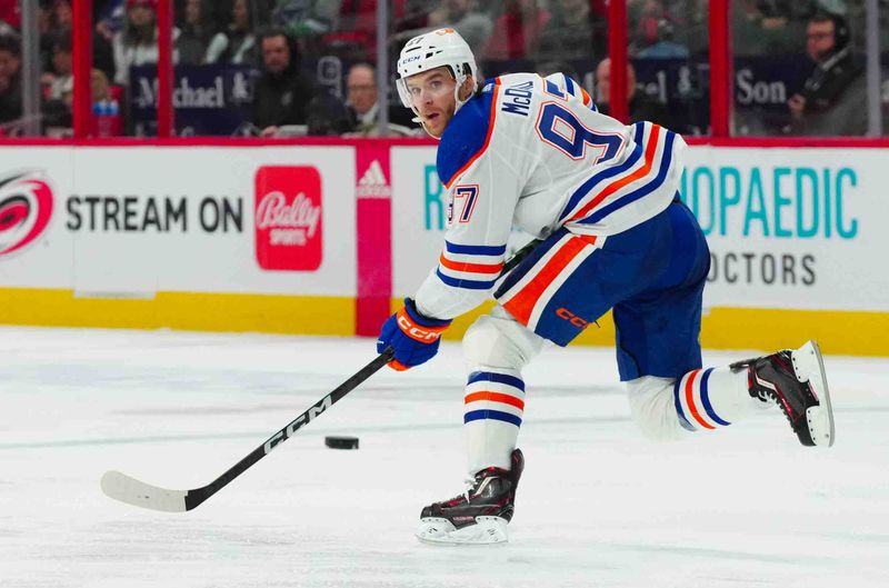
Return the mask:
POLYGON ((356 295, 351 147, 0 153, 0 286, 356 295))

